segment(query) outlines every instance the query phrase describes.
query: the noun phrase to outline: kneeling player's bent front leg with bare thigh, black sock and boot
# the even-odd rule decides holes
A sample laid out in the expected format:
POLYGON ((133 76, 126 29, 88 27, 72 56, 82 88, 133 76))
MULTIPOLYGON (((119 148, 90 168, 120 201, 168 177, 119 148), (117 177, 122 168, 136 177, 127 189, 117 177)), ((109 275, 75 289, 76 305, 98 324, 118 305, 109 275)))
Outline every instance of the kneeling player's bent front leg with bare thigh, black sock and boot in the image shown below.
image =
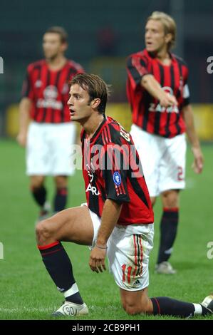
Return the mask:
POLYGON ((71 260, 61 241, 90 245, 93 242, 93 223, 88 207, 74 207, 43 220, 36 227, 38 249, 53 282, 66 301, 55 316, 88 314, 73 276, 71 260))

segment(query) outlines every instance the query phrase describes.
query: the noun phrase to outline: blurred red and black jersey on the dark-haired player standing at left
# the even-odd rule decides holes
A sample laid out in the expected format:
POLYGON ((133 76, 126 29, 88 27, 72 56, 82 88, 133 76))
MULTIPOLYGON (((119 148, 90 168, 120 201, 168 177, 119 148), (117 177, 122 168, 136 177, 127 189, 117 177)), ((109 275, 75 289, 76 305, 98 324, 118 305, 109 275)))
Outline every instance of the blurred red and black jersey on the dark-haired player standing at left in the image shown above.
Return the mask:
POLYGON ((38 123, 71 122, 68 109, 68 83, 83 68, 66 61, 58 71, 48 68, 46 60, 31 63, 27 68, 22 96, 32 101, 31 119, 38 123))

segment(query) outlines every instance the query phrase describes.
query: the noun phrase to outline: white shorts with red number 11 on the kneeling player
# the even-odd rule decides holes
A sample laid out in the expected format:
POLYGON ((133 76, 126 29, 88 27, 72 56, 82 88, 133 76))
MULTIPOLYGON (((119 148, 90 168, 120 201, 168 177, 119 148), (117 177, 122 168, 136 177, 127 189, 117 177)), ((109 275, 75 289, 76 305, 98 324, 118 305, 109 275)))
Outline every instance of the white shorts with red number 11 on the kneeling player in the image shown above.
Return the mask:
MULTIPOLYGON (((86 204, 83 204, 86 205, 86 204)), ((98 237, 100 217, 89 210, 93 222, 93 245, 98 237)), ((126 291, 149 286, 149 257, 153 247, 154 225, 116 225, 108 239, 107 256, 115 283, 126 291)))

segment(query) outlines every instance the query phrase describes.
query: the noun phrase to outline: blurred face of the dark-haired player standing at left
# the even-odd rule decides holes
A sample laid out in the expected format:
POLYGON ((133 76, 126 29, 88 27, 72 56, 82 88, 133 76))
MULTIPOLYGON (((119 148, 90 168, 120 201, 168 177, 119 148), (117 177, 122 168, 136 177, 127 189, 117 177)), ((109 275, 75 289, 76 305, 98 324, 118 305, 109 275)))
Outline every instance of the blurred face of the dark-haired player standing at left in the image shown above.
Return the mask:
POLYGON ((66 50, 66 43, 61 42, 58 33, 45 33, 43 35, 43 53, 46 59, 53 60, 66 50))

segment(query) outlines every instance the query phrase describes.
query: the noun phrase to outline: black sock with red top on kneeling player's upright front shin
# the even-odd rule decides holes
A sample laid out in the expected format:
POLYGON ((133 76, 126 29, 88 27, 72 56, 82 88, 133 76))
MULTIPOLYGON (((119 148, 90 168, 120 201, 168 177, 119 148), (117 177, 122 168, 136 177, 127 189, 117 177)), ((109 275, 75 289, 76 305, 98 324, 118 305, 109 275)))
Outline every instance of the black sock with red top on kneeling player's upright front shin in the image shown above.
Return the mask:
MULTIPOLYGON (((43 264, 50 274, 53 282, 60 292, 66 292, 71 289, 76 283, 73 277, 73 267, 71 260, 60 242, 46 245, 45 247, 38 246, 41 252, 43 264)), ((83 304, 80 293, 66 297, 67 301, 75 302, 76 304, 83 304)))

